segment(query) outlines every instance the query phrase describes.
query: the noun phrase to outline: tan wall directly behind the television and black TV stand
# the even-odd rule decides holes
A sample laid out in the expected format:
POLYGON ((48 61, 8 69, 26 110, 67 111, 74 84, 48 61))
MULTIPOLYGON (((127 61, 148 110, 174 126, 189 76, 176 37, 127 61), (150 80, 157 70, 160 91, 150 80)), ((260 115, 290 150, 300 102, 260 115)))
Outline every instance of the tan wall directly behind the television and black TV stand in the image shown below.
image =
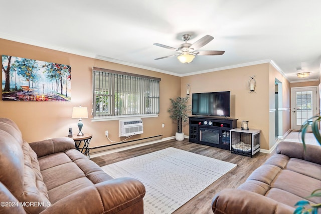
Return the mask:
MULTIPOLYGON (((237 127, 241 127, 242 120, 248 120, 250 128, 261 129, 261 148, 269 149, 268 79, 269 63, 186 76, 182 77, 181 96, 186 94, 186 84, 191 85, 191 94, 231 91, 230 118, 238 118, 237 127), (253 75, 256 89, 249 93, 248 81, 253 75)), ((188 124, 183 130, 189 133, 188 124)))

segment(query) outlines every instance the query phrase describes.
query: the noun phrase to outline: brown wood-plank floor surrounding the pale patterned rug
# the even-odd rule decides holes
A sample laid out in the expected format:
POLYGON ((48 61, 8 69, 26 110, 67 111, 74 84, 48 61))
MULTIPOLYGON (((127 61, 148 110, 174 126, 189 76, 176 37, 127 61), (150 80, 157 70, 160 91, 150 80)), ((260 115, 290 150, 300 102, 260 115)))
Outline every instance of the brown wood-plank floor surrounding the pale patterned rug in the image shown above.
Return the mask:
MULTIPOLYGON (((193 197, 186 204, 177 209, 174 214, 193 213, 193 214, 206 214, 213 213, 212 211, 212 198, 214 195, 225 188, 236 188, 252 173, 254 169, 262 165, 266 159, 272 154, 257 153, 252 158, 237 154, 231 154, 230 151, 219 149, 211 146, 201 145, 197 143, 190 143, 188 139, 184 141, 168 140, 142 147, 128 149, 120 152, 115 152, 99 157, 93 157, 91 160, 96 162, 99 166, 111 164, 131 157, 147 154, 153 151, 161 150, 167 147, 175 147, 185 151, 194 152, 204 156, 212 157, 215 159, 235 163, 237 166, 216 180, 198 195, 193 197)), ((146 213, 147 214, 147 213, 146 213)))

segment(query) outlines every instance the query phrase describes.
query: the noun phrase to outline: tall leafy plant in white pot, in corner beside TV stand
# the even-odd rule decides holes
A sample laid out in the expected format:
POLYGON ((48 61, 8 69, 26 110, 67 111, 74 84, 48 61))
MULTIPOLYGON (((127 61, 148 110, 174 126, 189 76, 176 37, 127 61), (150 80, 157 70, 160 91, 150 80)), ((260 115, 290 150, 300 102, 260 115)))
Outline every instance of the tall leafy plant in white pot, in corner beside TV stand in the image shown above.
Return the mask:
POLYGON ((170 99, 172 107, 168 110, 170 118, 178 124, 178 129, 175 134, 175 139, 178 141, 184 140, 183 123, 187 121, 187 116, 191 111, 191 106, 188 105, 188 97, 177 97, 170 99))

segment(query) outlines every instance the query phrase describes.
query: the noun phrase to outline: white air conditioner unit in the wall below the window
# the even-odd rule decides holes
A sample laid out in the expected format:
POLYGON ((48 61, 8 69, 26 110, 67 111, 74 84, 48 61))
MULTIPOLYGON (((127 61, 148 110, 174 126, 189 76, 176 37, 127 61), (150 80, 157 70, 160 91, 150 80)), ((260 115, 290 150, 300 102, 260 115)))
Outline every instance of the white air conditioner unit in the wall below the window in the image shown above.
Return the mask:
POLYGON ((142 133, 143 125, 140 118, 119 120, 119 137, 128 137, 130 135, 142 133))

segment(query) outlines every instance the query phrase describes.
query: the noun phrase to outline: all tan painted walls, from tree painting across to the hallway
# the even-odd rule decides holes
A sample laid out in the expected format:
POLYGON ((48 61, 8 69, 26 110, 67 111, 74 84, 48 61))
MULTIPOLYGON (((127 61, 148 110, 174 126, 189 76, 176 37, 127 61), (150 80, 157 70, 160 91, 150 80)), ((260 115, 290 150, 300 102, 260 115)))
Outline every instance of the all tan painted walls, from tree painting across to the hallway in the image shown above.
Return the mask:
MULTIPOLYGON (((172 122, 167 112, 167 109, 170 107, 169 99, 179 95, 185 96, 186 84, 191 85, 191 94, 231 91, 230 117, 238 118, 238 127, 241 126, 242 120, 248 120, 250 128, 261 129, 262 149, 270 149, 274 144, 274 136, 271 136, 269 132, 272 130, 272 124, 274 123, 271 121, 273 117, 269 112, 270 109, 274 108, 275 78, 283 83, 283 108, 290 107, 290 87, 293 87, 293 84, 289 84, 269 63, 181 78, 3 39, 0 39, 0 53, 1 55, 67 64, 71 65, 72 68, 72 99, 70 102, 15 102, 0 100, 0 117, 13 119, 20 126, 24 139, 28 142, 66 136, 69 127, 73 128, 74 133, 77 132, 77 119, 71 118, 72 107, 81 105, 88 107, 88 113, 91 112, 92 67, 162 79, 160 85, 161 111, 159 116, 143 118, 144 133, 135 135, 129 140, 149 138, 156 135, 163 135, 163 138, 174 136, 177 125, 172 122), (256 90, 249 93, 248 81, 250 76, 253 75, 255 75, 256 90), (165 128, 162 128, 163 123, 165 123, 165 128)), ((305 84, 312 84, 312 82, 305 84)), ((318 85, 318 82, 316 85, 318 85)), ((83 119, 83 132, 93 134, 91 147, 111 144, 104 135, 105 130, 109 131, 109 138, 111 140, 119 141, 124 139, 118 137, 118 120, 91 122, 91 118, 92 116, 88 119, 83 119)), ((290 127, 289 112, 282 112, 282 118, 285 133, 290 127)), ((183 130, 188 135, 188 123, 185 124, 183 130)))

